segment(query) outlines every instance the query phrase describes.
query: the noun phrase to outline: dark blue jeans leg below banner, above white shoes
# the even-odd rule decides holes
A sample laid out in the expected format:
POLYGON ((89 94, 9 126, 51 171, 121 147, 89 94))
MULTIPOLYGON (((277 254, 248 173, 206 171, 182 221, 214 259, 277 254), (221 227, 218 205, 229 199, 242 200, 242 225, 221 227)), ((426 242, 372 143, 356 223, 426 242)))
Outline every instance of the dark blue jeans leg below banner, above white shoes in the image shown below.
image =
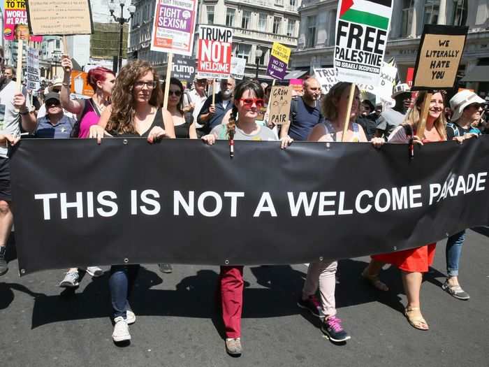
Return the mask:
POLYGON ((126 310, 129 309, 127 298, 131 295, 138 271, 139 265, 112 265, 110 267, 109 289, 114 318, 122 316, 126 319, 126 310))

